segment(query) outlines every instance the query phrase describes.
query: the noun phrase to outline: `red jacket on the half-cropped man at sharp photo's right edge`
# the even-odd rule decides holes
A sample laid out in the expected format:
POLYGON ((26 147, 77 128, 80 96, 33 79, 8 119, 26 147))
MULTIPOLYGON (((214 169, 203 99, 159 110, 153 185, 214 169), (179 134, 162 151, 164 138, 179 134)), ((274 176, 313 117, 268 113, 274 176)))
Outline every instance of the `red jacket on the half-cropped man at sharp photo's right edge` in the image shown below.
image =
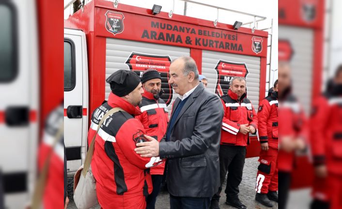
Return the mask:
POLYGON ((260 143, 278 149, 278 96, 273 92, 259 104, 258 137, 260 143))

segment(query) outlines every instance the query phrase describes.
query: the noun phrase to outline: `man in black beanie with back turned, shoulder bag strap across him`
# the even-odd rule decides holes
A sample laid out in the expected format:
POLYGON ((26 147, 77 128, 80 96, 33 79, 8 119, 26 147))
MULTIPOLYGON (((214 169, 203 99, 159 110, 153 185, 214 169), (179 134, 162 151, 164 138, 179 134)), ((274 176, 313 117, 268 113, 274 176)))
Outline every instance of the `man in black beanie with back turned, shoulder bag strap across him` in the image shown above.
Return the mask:
POLYGON ((145 141, 145 129, 135 116, 144 90, 137 74, 118 70, 106 80, 111 89, 108 102, 92 117, 91 129, 97 129, 110 109, 119 111, 108 116, 95 138, 93 164, 96 167, 96 194, 103 209, 145 209, 145 197, 152 192, 149 168, 160 163, 157 158, 142 158, 134 152, 138 141, 145 141), (93 122, 97 121, 96 123, 93 122))

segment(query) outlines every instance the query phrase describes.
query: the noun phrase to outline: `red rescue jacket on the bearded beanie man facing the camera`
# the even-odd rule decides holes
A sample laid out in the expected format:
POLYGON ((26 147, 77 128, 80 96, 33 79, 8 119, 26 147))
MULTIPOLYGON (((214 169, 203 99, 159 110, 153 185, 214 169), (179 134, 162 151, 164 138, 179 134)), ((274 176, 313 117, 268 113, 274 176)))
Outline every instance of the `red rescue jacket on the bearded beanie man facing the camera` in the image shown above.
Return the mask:
MULTIPOLYGON (((141 114, 136 118, 140 120, 146 134, 152 136, 158 142, 163 138, 169 122, 168 108, 163 99, 155 99, 152 93, 145 90, 139 105, 141 114)), ((150 169, 151 175, 163 175, 165 163, 150 169)))

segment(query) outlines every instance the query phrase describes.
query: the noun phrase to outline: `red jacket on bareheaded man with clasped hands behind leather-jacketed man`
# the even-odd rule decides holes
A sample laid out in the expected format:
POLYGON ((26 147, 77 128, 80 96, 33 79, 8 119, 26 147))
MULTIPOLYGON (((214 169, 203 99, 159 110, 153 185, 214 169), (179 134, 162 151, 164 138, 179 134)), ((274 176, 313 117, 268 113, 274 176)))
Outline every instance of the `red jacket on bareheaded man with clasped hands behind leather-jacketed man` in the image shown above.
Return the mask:
POLYGON ((255 129, 258 128, 257 114, 246 96, 246 93, 242 95, 238 102, 237 95, 230 89, 227 95, 221 96, 224 110, 221 145, 247 146, 249 145, 249 134, 245 135, 239 132, 240 124, 249 124, 255 129))

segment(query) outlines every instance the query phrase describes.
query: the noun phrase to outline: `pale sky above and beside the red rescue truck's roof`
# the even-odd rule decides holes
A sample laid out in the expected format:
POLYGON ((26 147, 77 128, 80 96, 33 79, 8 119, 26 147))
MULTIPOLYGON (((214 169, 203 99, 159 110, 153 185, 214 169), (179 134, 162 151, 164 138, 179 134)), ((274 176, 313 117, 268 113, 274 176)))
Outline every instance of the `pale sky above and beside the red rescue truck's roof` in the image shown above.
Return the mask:
MULTIPOLYGON (((64 3, 67 3, 68 1, 69 0, 64 0, 64 3)), ((270 27, 271 20, 273 18, 271 69, 275 70, 278 68, 278 1, 277 0, 210 0, 210 2, 208 2, 208 0, 194 0, 194 1, 267 17, 266 20, 258 24, 258 29, 270 27)), ((154 4, 158 4, 162 6, 161 10, 163 12, 170 12, 171 10, 173 10, 173 8, 174 8, 173 12, 175 14, 183 15, 183 12, 184 12, 184 1, 182 0, 120 0, 119 3, 129 4, 129 5, 143 7, 143 8, 151 8, 151 9, 154 4)), ((70 9, 66 9, 64 11, 64 19, 66 19, 69 16, 69 13, 70 13, 70 9)), ((198 4, 187 3, 187 16, 215 21, 215 19, 217 19, 217 9, 198 5, 198 4)), ((250 21, 253 21, 253 17, 244 16, 244 15, 222 11, 222 10, 219 11, 218 22, 233 25, 233 23, 236 20, 240 22, 250 22, 250 21)), ((249 25, 248 26, 246 25, 245 27, 249 27, 249 25)), ((271 32, 270 30, 267 30, 267 31, 271 32)), ((269 53, 270 51, 269 48, 267 51, 269 53)), ((271 83, 273 83, 273 81, 276 79, 278 79, 278 71, 276 71, 274 75, 273 75, 273 72, 271 72, 271 83)), ((268 70, 267 70, 266 80, 268 80, 268 70)))

